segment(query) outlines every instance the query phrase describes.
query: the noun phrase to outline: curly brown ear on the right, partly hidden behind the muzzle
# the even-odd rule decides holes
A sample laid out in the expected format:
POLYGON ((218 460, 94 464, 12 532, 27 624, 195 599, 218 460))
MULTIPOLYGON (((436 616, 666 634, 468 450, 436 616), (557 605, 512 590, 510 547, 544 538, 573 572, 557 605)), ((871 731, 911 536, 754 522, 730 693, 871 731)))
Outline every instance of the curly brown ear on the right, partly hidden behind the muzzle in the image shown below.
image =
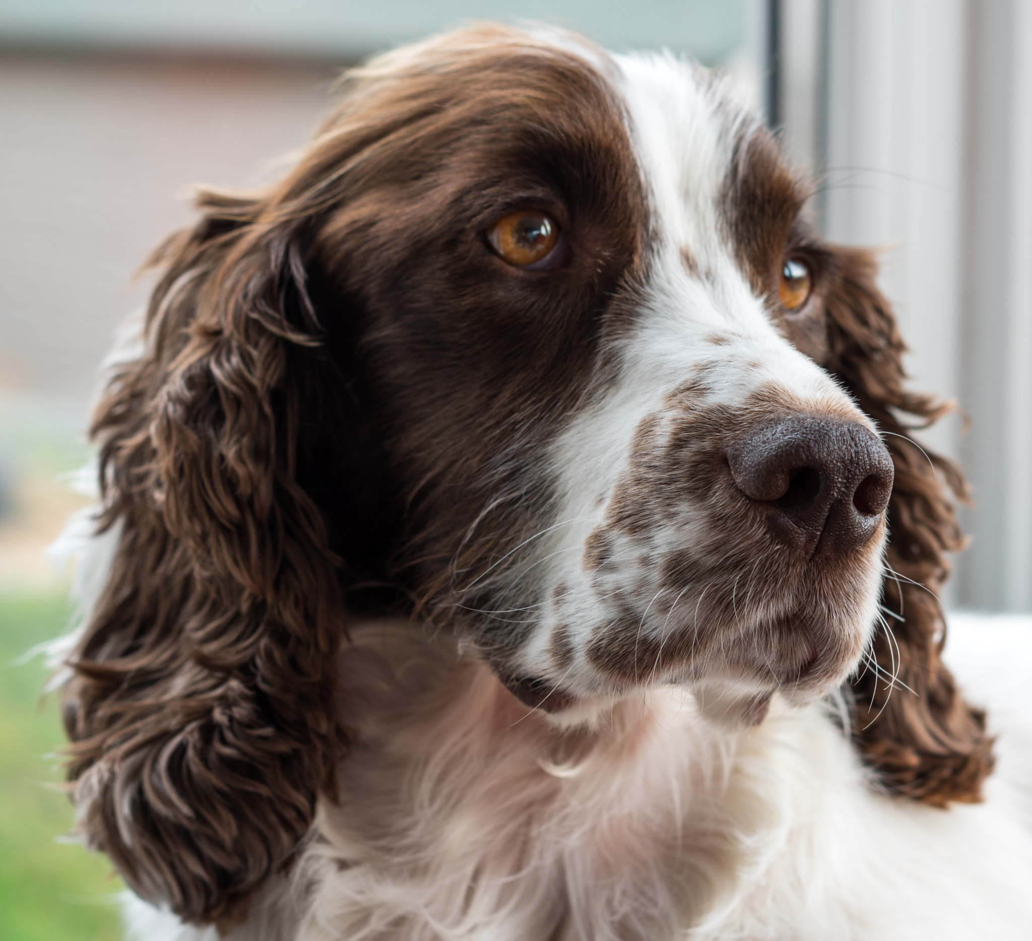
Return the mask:
POLYGON ((892 571, 882 588, 888 628, 881 626, 874 642, 880 670, 866 670, 852 684, 853 733, 890 791, 940 807, 978 801, 993 769, 992 740, 985 714, 963 701, 940 659, 945 624, 937 597, 949 576, 944 553, 964 545, 949 491, 965 498, 967 485, 955 463, 907 436, 949 407, 904 389, 906 348, 875 287, 871 254, 836 248, 830 267, 826 365, 889 432, 885 445, 896 465, 889 504, 892 571), (904 424, 907 415, 914 424, 904 424))

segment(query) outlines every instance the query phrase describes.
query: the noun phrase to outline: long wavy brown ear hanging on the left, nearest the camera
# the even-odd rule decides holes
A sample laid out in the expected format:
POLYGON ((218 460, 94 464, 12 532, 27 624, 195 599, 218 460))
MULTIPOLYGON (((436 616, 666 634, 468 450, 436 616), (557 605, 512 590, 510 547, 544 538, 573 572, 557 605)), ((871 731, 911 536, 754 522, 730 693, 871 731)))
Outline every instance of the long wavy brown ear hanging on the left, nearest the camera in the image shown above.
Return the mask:
POLYGON ((328 394, 303 222, 262 196, 200 205, 156 254, 143 351, 95 416, 121 537, 64 714, 88 843, 143 898, 226 927, 332 787, 343 621, 297 479, 328 394))

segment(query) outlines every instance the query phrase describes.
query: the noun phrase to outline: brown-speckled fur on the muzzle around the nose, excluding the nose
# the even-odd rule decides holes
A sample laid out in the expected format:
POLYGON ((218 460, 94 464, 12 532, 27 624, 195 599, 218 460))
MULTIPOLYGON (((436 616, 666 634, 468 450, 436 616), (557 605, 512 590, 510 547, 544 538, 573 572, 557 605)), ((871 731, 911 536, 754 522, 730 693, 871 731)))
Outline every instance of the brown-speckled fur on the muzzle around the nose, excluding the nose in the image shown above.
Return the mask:
POLYGON ((773 384, 738 408, 683 390, 665 407, 640 423, 606 528, 592 533, 611 551, 615 542, 618 559, 633 551, 644 570, 624 566, 595 580, 610 614, 592 631, 589 662, 626 684, 702 675, 715 661, 761 682, 833 675, 860 654, 864 637, 846 625, 880 541, 840 557, 787 551, 766 508, 735 486, 725 449, 788 416, 858 421, 860 414, 843 401, 802 401, 773 384))

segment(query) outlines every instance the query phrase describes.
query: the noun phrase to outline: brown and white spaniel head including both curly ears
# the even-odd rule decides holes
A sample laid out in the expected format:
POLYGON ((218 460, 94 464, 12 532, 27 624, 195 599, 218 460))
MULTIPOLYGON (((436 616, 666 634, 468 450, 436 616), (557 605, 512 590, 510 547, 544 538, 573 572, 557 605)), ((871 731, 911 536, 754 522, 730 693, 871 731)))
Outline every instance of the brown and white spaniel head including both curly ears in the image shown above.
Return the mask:
POLYGON ((66 690, 83 828, 134 888, 228 920, 289 866, 359 609, 567 714, 677 682, 756 721, 866 657, 885 782, 976 797, 911 590, 959 542, 933 464, 962 482, 882 441, 935 405, 804 195, 706 72, 485 27, 355 72, 279 184, 201 196, 96 418, 121 536, 66 690))

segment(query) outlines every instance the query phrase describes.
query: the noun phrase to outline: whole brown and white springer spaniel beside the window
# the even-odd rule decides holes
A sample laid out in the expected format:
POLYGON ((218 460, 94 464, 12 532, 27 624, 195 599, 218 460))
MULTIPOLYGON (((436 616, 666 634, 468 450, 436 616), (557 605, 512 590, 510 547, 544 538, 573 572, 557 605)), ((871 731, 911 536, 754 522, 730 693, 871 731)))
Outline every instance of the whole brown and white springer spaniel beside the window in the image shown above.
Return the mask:
POLYGON ((708 72, 491 26, 200 195, 64 677, 137 937, 1032 938, 942 408, 803 200, 708 72))

